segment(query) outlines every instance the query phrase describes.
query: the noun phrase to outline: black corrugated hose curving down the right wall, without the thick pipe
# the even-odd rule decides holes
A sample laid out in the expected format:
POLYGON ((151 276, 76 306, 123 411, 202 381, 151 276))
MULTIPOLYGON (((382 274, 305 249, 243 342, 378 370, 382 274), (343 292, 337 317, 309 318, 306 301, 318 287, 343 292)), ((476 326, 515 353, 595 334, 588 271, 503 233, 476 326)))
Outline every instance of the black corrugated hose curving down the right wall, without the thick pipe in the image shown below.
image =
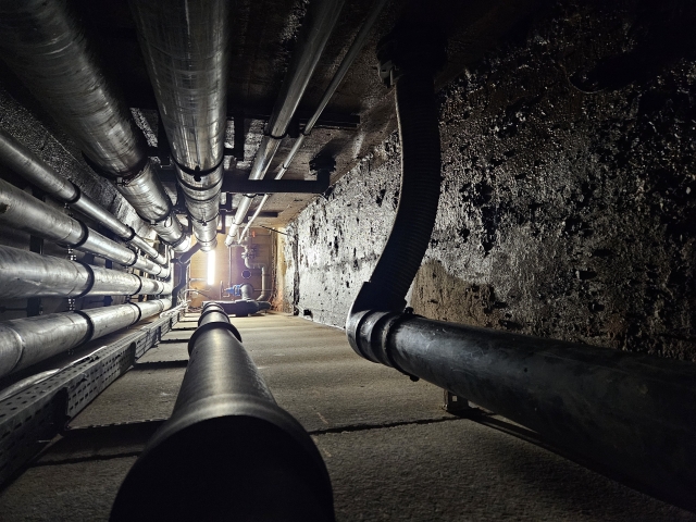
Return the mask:
POLYGON ((377 51, 391 62, 401 141, 401 189, 391 232, 351 313, 402 310, 435 225, 440 189, 438 110, 433 77, 446 59, 439 33, 422 24, 400 26, 377 51))

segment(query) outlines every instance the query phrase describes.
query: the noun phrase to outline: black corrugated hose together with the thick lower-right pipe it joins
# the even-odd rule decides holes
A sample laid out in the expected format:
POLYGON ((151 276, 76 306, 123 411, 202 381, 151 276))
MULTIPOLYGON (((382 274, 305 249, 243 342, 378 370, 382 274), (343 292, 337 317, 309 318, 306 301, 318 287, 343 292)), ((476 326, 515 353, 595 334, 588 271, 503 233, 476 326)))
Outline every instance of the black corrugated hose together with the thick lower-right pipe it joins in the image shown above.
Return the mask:
POLYGON ((401 199, 384 251, 349 313, 350 345, 368 360, 434 383, 634 486, 695 509, 693 363, 402 312, 435 223, 440 176, 434 71, 423 69, 439 60, 423 57, 422 28, 400 28, 397 41, 385 46, 400 74, 401 199))

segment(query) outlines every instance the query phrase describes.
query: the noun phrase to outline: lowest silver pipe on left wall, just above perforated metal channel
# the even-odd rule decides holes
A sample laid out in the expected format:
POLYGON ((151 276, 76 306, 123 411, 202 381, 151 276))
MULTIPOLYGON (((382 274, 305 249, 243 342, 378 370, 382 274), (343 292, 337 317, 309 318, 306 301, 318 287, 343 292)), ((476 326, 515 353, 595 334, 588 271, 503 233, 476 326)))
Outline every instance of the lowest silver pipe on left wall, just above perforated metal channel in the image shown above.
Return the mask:
POLYGON ((1 322, 0 377, 117 332, 171 307, 171 299, 156 299, 1 322))

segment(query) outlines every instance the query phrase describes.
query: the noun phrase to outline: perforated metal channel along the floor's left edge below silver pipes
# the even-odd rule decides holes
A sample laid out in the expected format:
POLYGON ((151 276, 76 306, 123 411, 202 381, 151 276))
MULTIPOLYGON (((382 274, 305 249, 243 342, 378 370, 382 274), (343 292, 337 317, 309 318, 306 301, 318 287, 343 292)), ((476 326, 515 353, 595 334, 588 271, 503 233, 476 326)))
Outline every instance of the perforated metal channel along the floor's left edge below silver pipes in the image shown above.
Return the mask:
POLYGON ((0 401, 0 485, 157 345, 177 321, 178 314, 158 319, 0 401))

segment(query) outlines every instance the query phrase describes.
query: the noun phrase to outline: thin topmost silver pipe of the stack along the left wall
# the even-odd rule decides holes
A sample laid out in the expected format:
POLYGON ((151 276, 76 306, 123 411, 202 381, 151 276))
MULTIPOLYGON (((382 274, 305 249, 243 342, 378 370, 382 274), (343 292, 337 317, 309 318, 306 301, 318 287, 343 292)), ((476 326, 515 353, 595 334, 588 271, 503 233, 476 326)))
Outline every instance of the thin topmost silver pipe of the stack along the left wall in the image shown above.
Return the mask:
POLYGON ((83 194, 73 183, 60 176, 50 165, 29 148, 14 139, 0 127, 0 163, 20 174, 24 179, 44 190, 47 195, 70 203, 71 208, 101 223, 124 241, 139 248, 158 264, 165 265, 166 257, 158 252, 133 228, 119 221, 97 201, 83 194))

